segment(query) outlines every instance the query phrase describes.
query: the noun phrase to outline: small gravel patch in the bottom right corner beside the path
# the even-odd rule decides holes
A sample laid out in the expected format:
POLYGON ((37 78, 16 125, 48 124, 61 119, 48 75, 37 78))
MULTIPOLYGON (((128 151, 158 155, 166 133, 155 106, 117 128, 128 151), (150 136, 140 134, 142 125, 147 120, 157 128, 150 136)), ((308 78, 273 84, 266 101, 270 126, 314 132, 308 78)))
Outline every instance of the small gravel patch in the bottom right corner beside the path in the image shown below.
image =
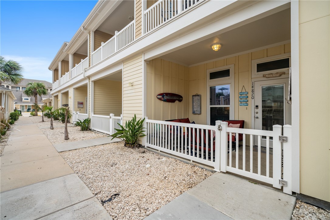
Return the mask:
POLYGON ((330 212, 297 200, 292 219, 330 219, 330 212))

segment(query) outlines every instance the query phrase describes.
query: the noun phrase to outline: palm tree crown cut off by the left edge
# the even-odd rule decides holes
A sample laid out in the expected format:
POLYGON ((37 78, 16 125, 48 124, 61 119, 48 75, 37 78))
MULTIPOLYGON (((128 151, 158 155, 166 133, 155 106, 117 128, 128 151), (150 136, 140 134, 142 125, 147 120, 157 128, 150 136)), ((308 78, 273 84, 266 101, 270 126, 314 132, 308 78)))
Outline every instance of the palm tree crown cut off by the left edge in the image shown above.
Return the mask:
POLYGON ((23 67, 14 60, 5 60, 3 56, 0 56, 0 85, 1 83, 8 81, 15 85, 23 80, 23 67))

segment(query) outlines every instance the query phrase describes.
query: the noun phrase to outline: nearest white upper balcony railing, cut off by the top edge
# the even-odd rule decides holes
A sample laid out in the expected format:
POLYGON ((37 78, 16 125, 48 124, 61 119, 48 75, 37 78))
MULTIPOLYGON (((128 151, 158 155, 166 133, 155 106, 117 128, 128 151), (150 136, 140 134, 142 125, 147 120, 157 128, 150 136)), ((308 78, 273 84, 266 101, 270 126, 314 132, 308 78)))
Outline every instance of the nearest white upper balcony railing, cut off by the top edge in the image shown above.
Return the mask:
POLYGON ((159 0, 144 12, 145 33, 176 17, 203 0, 159 0))

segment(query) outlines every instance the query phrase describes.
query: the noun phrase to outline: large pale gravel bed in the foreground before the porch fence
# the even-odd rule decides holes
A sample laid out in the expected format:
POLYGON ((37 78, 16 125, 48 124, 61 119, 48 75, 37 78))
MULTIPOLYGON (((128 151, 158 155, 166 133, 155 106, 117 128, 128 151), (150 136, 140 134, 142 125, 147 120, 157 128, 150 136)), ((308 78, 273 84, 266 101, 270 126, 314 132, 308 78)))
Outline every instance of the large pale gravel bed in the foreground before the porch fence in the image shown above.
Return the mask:
POLYGON ((143 219, 212 175, 123 142, 60 154, 115 220, 143 219))

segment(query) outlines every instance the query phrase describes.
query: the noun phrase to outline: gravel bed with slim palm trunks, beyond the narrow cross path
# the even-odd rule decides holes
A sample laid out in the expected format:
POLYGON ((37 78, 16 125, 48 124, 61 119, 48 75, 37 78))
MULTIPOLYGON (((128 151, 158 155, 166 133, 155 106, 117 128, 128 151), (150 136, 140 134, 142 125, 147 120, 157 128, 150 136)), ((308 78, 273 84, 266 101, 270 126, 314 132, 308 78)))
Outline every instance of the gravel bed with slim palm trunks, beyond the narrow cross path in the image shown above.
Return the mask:
POLYGON ((106 135, 99 134, 93 131, 81 131, 80 127, 68 127, 69 140, 65 141, 64 127, 55 128, 54 125, 53 130, 50 130, 49 128, 43 128, 40 130, 46 135, 46 137, 52 144, 107 137, 106 135))

